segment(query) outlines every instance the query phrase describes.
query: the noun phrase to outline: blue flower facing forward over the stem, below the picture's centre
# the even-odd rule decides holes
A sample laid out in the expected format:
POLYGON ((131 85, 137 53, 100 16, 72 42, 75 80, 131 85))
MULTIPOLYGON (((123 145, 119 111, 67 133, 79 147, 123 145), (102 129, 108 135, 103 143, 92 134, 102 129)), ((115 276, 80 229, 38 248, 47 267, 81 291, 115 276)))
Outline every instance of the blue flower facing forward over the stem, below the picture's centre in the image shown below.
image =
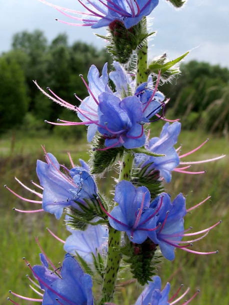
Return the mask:
POLYGON ((135 188, 131 182, 122 180, 115 187, 114 200, 118 205, 109 214, 110 225, 126 232, 132 242, 142 243, 156 222, 154 210, 149 208, 148 189, 145 186, 135 188))

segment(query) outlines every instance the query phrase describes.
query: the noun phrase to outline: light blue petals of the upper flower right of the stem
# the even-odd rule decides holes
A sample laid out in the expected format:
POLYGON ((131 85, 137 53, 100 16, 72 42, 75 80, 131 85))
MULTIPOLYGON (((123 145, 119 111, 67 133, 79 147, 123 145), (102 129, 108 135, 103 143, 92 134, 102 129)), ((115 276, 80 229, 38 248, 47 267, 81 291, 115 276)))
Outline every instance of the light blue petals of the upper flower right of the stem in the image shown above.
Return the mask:
POLYGON ((157 169, 164 180, 170 182, 171 171, 179 165, 179 156, 173 145, 177 141, 180 127, 181 124, 179 122, 174 122, 171 125, 166 122, 160 137, 151 138, 145 146, 149 151, 165 154, 165 156, 154 157, 140 153, 135 156, 134 166, 136 168, 143 168, 148 165, 145 175, 149 174, 151 170, 157 169))

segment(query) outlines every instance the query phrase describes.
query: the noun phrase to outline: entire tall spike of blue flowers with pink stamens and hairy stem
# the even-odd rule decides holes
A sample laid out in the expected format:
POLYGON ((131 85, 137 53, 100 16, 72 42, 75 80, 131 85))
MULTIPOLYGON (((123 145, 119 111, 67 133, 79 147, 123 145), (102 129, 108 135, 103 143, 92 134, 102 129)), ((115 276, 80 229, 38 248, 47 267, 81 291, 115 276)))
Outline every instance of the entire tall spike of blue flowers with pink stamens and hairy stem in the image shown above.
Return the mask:
MULTIPOLYGON (((82 13, 40 1, 81 21, 81 25, 92 28, 108 27, 113 35, 111 43, 113 41, 116 46, 120 44, 122 50, 126 48, 132 61, 129 64, 131 70, 121 65, 126 61, 113 61, 113 70, 109 73, 105 63, 101 74, 95 65, 91 65, 87 82, 83 75, 79 75, 88 95, 80 99, 75 94, 77 105, 63 100, 49 87, 47 91, 43 90, 34 81, 43 94, 74 111, 80 119, 80 122, 57 119, 57 122, 48 123, 86 125, 87 141, 93 141, 94 146, 88 163, 80 159, 80 165, 75 165, 69 154, 70 169, 59 164, 54 155, 46 152, 43 147, 45 161, 37 160, 36 164, 39 184, 31 181, 38 190, 27 187, 15 178, 21 186, 36 195, 38 200, 24 198, 5 185, 20 199, 42 206, 36 210, 14 208, 15 210, 28 213, 46 211, 54 214, 56 219, 60 219, 65 213, 66 229, 70 232, 66 240, 62 240, 49 230, 64 244, 66 251, 63 262, 58 267, 47 257, 38 239, 36 241, 41 249, 41 265, 31 267, 25 260, 35 278, 34 281, 28 277, 32 283, 30 287, 40 298, 29 298, 12 291, 10 293, 28 301, 42 302, 43 305, 113 304, 121 263, 123 268, 128 265, 138 283, 145 284, 135 305, 172 305, 184 297, 189 288, 177 297, 179 288, 169 298, 169 283, 161 290, 160 277, 152 277, 158 258, 163 256, 167 260, 173 260, 175 248, 197 254, 217 253, 195 251, 190 247, 193 242, 206 236, 220 221, 196 232, 191 231, 192 227, 185 229, 185 215, 209 197, 186 208, 184 195, 179 193, 172 200, 164 191, 164 181, 170 182, 172 171, 203 173, 204 171, 186 169, 193 163, 213 161, 223 156, 182 162, 182 157, 195 152, 206 141, 184 154, 180 154, 180 147, 174 147, 181 123, 178 119, 168 120, 164 117, 168 99, 158 87, 160 75, 163 76, 168 69, 172 74, 176 73, 177 69, 171 67, 182 56, 169 63, 165 63, 160 57, 159 63, 153 61, 150 65, 147 65, 146 57, 146 40, 151 33, 147 33, 145 16, 152 12, 158 0, 78 0, 86 9, 82 13), (73 16, 74 13, 81 14, 81 17, 73 16), (130 43, 128 39, 130 36, 134 37, 135 32, 138 35, 137 43, 130 43), (121 39, 116 39, 119 36, 121 39), (156 73, 152 73, 154 70, 156 73), (159 137, 149 138, 149 128, 153 129, 151 123, 159 119, 166 121, 159 137), (96 171, 94 160, 104 165, 101 166, 101 171, 96 171), (100 177, 99 174, 110 170, 112 165, 116 171, 119 170, 119 177, 114 178, 117 181, 114 195, 111 191, 107 198, 99 191, 99 184, 95 180, 100 177), (179 167, 180 165, 184 166, 179 167), (94 295, 93 284, 96 284, 94 290, 97 287, 100 289, 94 295)), ((169 1, 177 7, 184 2, 169 1)), ((107 49, 110 50, 109 47, 107 49)), ((128 61, 128 56, 126 57, 128 61)), ((198 291, 183 304, 188 304, 197 293, 198 291)), ((8 300, 17 304, 9 297, 8 300)))

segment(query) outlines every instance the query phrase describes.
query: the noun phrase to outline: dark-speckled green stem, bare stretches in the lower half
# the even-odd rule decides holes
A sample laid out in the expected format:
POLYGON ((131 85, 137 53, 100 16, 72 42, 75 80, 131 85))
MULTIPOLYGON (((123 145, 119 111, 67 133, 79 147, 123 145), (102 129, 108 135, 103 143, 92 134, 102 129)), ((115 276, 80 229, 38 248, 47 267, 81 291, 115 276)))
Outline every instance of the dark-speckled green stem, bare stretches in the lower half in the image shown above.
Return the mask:
MULTIPOLYGON (((121 169, 119 174, 119 181, 130 180, 133 165, 133 153, 126 152, 123 156, 121 169)), ((117 231, 111 226, 109 228, 108 237, 108 251, 106 258, 106 267, 103 277, 102 286, 102 298, 99 305, 104 304, 104 302, 111 302, 113 299, 113 293, 116 285, 117 272, 119 269, 121 253, 120 253, 120 243, 121 243, 121 231, 117 231)))

